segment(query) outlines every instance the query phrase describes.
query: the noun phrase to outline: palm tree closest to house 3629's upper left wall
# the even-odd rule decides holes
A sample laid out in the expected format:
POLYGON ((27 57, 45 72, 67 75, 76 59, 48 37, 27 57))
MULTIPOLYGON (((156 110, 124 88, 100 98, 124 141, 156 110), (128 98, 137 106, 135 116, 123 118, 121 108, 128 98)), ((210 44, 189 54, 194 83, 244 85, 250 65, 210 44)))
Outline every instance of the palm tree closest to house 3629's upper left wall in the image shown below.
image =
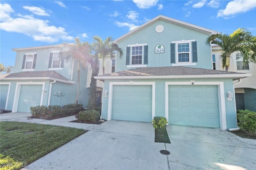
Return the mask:
POLYGON ((103 41, 99 36, 94 36, 93 38, 96 42, 92 43, 92 47, 94 51, 98 53, 98 57, 102 59, 103 74, 105 74, 106 57, 110 56, 111 59, 114 59, 115 55, 113 52, 117 51, 119 53, 119 57, 122 58, 124 53, 117 44, 112 43, 112 37, 107 37, 105 41, 103 41))

